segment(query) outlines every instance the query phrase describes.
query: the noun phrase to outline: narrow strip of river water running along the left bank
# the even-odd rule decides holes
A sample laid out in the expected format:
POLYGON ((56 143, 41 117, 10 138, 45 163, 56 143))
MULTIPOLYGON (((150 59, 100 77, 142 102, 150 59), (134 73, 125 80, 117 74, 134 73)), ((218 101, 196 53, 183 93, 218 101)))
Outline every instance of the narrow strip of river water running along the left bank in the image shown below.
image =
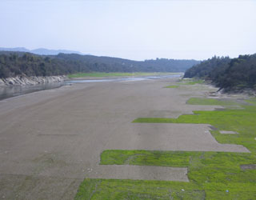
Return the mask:
POLYGON ((5 98, 11 98, 22 94, 29 94, 40 90, 48 90, 58 88, 70 83, 86 83, 86 82, 134 82, 144 81, 150 79, 162 79, 162 78, 178 78, 182 74, 173 75, 158 75, 148 77, 133 77, 133 78, 108 78, 108 79, 97 79, 97 80, 67 80, 65 82, 54 82, 47 84, 38 84, 35 86, 0 86, 0 100, 5 98))

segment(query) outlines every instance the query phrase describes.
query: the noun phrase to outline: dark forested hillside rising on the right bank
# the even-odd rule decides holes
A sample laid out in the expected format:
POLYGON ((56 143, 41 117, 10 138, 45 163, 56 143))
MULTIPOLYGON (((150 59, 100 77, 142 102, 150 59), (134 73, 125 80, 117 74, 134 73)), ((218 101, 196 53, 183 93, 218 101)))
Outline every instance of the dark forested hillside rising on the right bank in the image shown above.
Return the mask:
POLYGON ((256 54, 214 57, 186 70, 184 78, 204 78, 225 90, 256 90, 256 54))

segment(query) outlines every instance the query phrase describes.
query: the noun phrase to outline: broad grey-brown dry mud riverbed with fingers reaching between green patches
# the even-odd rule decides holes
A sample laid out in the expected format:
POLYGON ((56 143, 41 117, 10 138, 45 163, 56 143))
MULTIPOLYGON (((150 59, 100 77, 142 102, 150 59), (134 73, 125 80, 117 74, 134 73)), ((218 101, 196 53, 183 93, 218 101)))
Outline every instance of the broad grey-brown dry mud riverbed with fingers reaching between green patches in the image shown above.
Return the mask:
POLYGON ((221 108, 186 105, 213 89, 164 88, 173 81, 91 82, 0 101, 0 198, 72 199, 83 178, 188 181, 186 168, 99 166, 107 149, 248 152, 216 142, 210 125, 131 123, 221 108))

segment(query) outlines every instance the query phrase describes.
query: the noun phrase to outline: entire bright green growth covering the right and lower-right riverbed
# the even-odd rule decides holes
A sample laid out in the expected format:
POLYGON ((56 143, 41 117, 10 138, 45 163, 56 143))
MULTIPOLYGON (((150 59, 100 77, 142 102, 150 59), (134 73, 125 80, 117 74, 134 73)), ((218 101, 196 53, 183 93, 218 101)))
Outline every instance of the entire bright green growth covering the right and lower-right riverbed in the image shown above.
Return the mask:
POLYGON ((191 98, 188 103, 226 106, 226 110, 194 111, 179 118, 138 118, 134 122, 206 123, 216 127, 221 143, 246 146, 251 153, 104 150, 102 165, 188 167, 190 182, 85 179, 75 199, 255 199, 256 170, 241 165, 256 164, 256 98, 243 109, 229 109, 237 102, 191 98), (220 134, 233 130, 239 134, 220 134))

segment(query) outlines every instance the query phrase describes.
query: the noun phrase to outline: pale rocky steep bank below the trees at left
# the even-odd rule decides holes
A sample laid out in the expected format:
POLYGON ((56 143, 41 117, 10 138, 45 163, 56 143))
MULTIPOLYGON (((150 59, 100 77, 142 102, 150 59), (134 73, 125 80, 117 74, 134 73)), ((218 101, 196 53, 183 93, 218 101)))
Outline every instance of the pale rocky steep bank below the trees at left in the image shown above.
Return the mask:
POLYGON ((66 76, 16 76, 10 78, 0 78, 0 86, 32 86, 37 84, 62 82, 66 76))

